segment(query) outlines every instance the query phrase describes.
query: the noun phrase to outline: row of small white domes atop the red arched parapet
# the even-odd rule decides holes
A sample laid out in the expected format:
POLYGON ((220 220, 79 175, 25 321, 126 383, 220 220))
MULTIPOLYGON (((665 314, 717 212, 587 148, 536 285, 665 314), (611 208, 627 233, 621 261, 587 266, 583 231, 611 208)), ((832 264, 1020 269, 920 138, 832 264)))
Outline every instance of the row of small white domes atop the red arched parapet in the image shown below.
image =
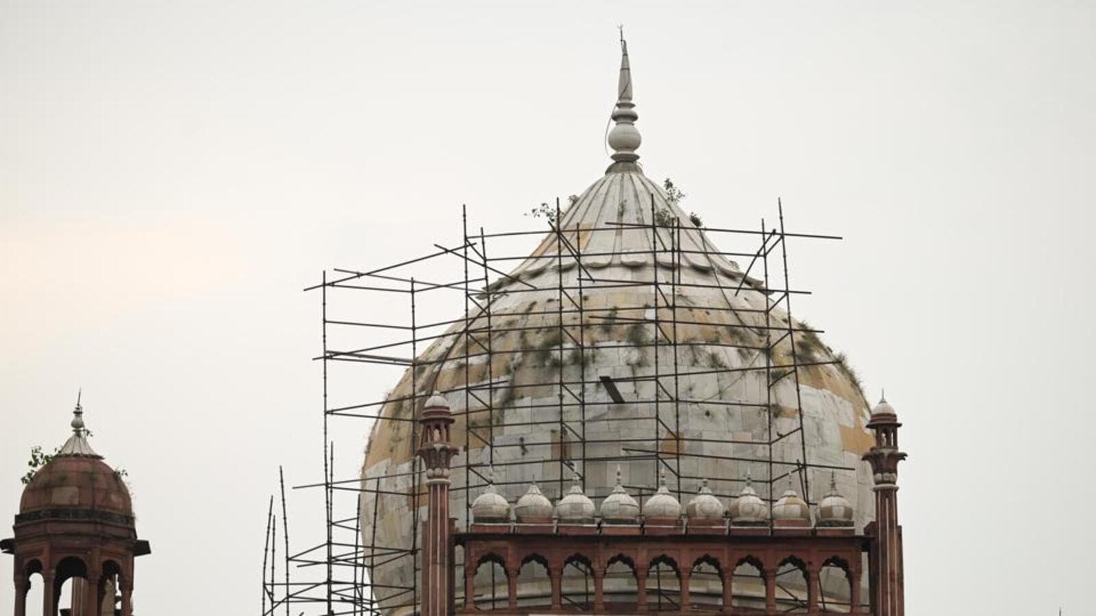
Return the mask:
MULTIPOLYGON (((831 478, 830 492, 819 503, 819 525, 848 526, 853 523, 853 506, 848 500, 837 492, 836 479, 831 478)), ((494 483, 489 482, 487 490, 472 502, 472 518, 477 523, 500 523, 510 520, 510 503, 494 490, 494 483)), ((513 506, 514 517, 518 522, 545 521, 551 517, 563 523, 583 524, 594 521, 597 509, 582 491, 579 477, 562 499, 552 506, 551 501, 540 492, 536 483, 523 494, 513 506)), ((769 520, 769 507, 757 495, 746 476, 746 484, 739 492, 730 507, 711 493, 708 481, 703 480, 697 494, 685 506, 685 515, 689 520, 721 520, 724 513, 732 524, 766 524, 769 520)), ((607 524, 635 524, 639 521, 639 503, 636 502, 620 483, 620 467, 617 467, 616 487, 602 501, 598 515, 607 524)), ((643 505, 643 517, 647 520, 676 520, 682 515, 682 505, 666 488, 666 475, 663 470, 659 489, 643 505)), ((789 486, 788 490, 773 504, 772 518, 779 521, 811 521, 810 506, 789 486)))

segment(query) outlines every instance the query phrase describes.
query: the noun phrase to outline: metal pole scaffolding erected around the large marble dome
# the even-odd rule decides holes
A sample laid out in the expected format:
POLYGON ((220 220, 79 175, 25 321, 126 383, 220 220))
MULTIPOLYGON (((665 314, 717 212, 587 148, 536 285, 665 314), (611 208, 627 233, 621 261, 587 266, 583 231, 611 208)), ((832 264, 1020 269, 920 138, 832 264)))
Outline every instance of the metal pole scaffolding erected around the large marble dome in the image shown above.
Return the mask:
MULTIPOLYGON (((461 237, 455 243, 434 244, 431 252, 407 261, 376 269, 350 270, 333 269, 324 271, 321 280, 308 292, 319 295, 322 310, 322 353, 315 360, 322 364, 323 378, 323 479, 300 489, 320 490, 323 493, 324 520, 323 539, 304 550, 290 551, 290 541, 286 524, 285 483, 281 480, 282 524, 278 527, 274 500, 267 513, 267 533, 263 555, 262 612, 274 615, 284 611, 290 614, 352 614, 373 615, 406 607, 414 611, 419 604, 419 591, 415 583, 381 584, 374 580, 373 572, 391 563, 408 563, 415 572, 420 567, 418 545, 419 510, 422 490, 420 487, 420 467, 415 459, 410 472, 391 472, 363 479, 335 478, 335 441, 334 434, 349 434, 355 440, 351 446, 344 444, 341 450, 350 450, 355 463, 361 455, 359 437, 362 422, 406 422, 409 424, 411 443, 418 441, 418 424, 414 417, 395 417, 395 413, 384 413, 386 404, 411 404, 414 415, 419 412, 421 402, 435 389, 436 375, 443 369, 464 372, 464 383, 458 387, 442 389, 442 393, 457 399, 463 397, 465 404, 460 411, 455 411, 457 421, 463 421, 465 442, 458 443, 467 454, 472 448, 487 449, 487 458, 471 463, 469 456, 458 456, 454 463, 454 476, 463 474, 461 484, 455 484, 454 493, 464 491, 466 494, 464 512, 459 513, 458 524, 467 527, 470 521, 471 495, 479 493, 489 481, 487 467, 505 467, 507 465, 526 464, 524 461, 495 460, 495 450, 503 447, 522 447, 523 450, 535 446, 545 446, 550 457, 538 458, 537 461, 558 464, 559 472, 553 489, 549 488, 549 497, 559 497, 566 492, 566 479, 569 474, 581 477, 591 461, 615 461, 650 459, 661 470, 671 477, 671 490, 681 500, 682 480, 699 480, 699 477, 683 472, 682 460, 690 456, 716 458, 724 461, 744 461, 767 465, 768 472, 764 478, 754 478, 755 483, 764 486, 763 497, 775 500, 775 484, 789 476, 795 479, 798 474, 800 493, 804 500, 811 501, 810 474, 807 469, 825 469, 837 472, 853 472, 852 467, 820 464, 808 458, 807 440, 804 437, 802 401, 800 397, 800 370, 810 366, 836 364, 844 367, 843 361, 832 353, 820 356, 818 352, 804 352, 804 347, 817 344, 817 334, 821 330, 801 327, 791 318, 791 299, 809 294, 802 289, 792 288, 788 273, 788 239, 835 240, 834 236, 813 233, 792 233, 785 230, 783 205, 777 203, 778 221, 775 227, 761 221, 757 229, 701 228, 709 237, 721 237, 732 244, 745 246, 737 252, 720 252, 705 241, 701 250, 690 250, 683 247, 682 233, 693 230, 692 224, 676 218, 667 219, 655 210, 652 195, 650 204, 650 220, 647 224, 615 223, 604 227, 566 229, 556 225, 562 220, 563 212, 557 201, 555 212, 547 216, 548 233, 553 236, 557 249, 551 254, 527 256, 526 253, 511 254, 509 244, 527 242, 530 237, 543 237, 541 230, 496 231, 488 232, 483 228, 469 229, 467 210, 461 212, 461 237), (586 262, 596 258, 621 256, 621 253, 586 252, 583 253, 581 233, 648 233, 651 238, 650 280, 625 280, 601 275, 596 269, 589 267, 586 262), (500 251, 501 247, 501 251, 500 251), (498 252, 498 253, 496 253, 498 252), (726 284, 720 276, 712 275, 710 285, 686 282, 683 280, 682 259, 688 254, 698 254, 704 259, 738 258, 745 261, 742 275, 735 285, 726 284), (550 286, 535 285, 526 277, 515 277, 506 272, 511 264, 527 259, 539 259, 547 262, 555 260, 558 276, 550 286), (574 265, 564 267, 564 261, 573 261, 574 265), (576 267, 578 275, 566 276, 564 271, 576 267), (424 275, 422 275, 424 274, 424 275), (452 276, 452 278, 447 277, 452 276), (496 293, 500 286, 505 286, 504 293, 496 293), (688 311, 683 310, 680 299, 688 288, 709 286, 718 289, 724 298, 742 293, 760 293, 764 296, 764 308, 747 309, 735 307, 730 299, 726 306, 705 306, 706 310, 724 311, 733 315, 738 324, 720 324, 719 327, 741 328, 751 335, 740 335, 732 332, 729 342, 690 341, 682 339, 682 326, 706 326, 690 320, 688 311), (592 293, 606 289, 643 289, 650 299, 635 306, 589 306, 587 298, 592 293), (558 341, 546 350, 544 344, 496 349, 494 340, 499 335, 515 333, 525 341, 522 332, 526 330, 543 330, 523 320, 517 322, 499 318, 495 308, 500 295, 522 293, 552 293, 555 307, 547 304, 543 309, 527 312, 529 317, 551 319, 556 332, 552 338, 558 341), (345 303, 345 304, 343 304, 345 303), (402 308, 396 304, 402 304, 402 308), (464 305, 464 316, 457 319, 436 319, 433 316, 424 318, 424 306, 431 311, 449 313, 459 310, 464 305), (402 312, 402 318, 373 319, 377 311, 388 312, 389 317, 402 312), (780 312, 786 318, 775 319, 780 312), (589 332, 594 328, 613 321, 629 323, 629 327, 642 328, 642 333, 618 341, 619 349, 651 349, 653 365, 646 374, 632 377, 608 377, 590 374, 587 369, 587 351, 592 342, 589 332), (803 343, 808 339, 810 342, 803 343), (437 341, 453 342, 449 351, 439 357, 426 357, 423 353, 426 345, 437 341), (806 346, 804 346, 806 344, 806 346), (742 354, 757 357, 751 365, 728 367, 711 366, 707 369, 695 369, 695 365, 685 366, 680 357, 682 353, 690 352, 694 346, 723 346, 742 354), (777 347, 787 357, 781 360, 777 347), (496 356, 512 353, 547 353, 547 364, 558 367, 552 384, 558 392, 555 404, 528 404, 530 412, 527 419, 507 417, 498 412, 509 408, 515 397, 521 396, 522 388, 544 387, 544 383, 518 384, 509 379, 505 374, 495 374, 492 361, 496 356), (578 355, 575 355, 578 354, 578 355), (471 363, 484 363, 487 375, 484 379, 473 379, 471 363), (754 365, 756 364, 756 365, 754 365), (566 367, 578 366, 578 377, 569 375, 566 367), (375 399, 364 398, 368 392, 361 392, 366 383, 388 383, 363 378, 366 367, 384 368, 385 379, 391 375, 390 381, 399 379, 399 372, 409 370, 411 378, 411 395, 385 395, 375 399), (688 377, 713 375, 720 372, 753 372, 764 373, 767 392, 764 399, 747 400, 709 400, 690 398, 682 387, 682 379, 688 377), (433 378, 432 378, 433 376, 433 378), (796 410, 798 411, 798 427, 786 433, 778 433, 774 427, 774 389, 781 383, 791 380, 795 384, 796 410), (641 421, 649 425, 650 436, 646 438, 595 438, 587 436, 586 413, 598 406, 623 402, 619 386, 626 383, 650 384, 652 395, 648 400, 629 400, 650 409, 648 417, 628 418, 626 421, 641 421), (350 385, 347 385, 350 384, 350 385), (591 391, 604 388, 608 400, 592 399, 591 391), (687 443, 718 441, 720 443, 739 443, 729 437, 726 440, 708 440, 700 436, 682 434, 682 406, 694 404, 700 408, 737 407, 756 409, 767 417, 767 438, 742 442, 754 446, 763 446, 766 455, 757 456, 721 456, 701 454, 688 450, 687 443), (548 412, 549 408, 552 412, 548 412), (527 425, 538 425, 553 429, 556 433, 550 440, 522 440, 515 444, 496 443, 495 434, 514 422, 527 425), (339 430, 334 430, 335 422, 339 430), (354 430, 356 427, 356 430, 354 430), (798 459, 777 459, 774 447, 781 442, 799 440, 798 459), (587 452, 592 445, 600 443, 621 443, 619 456, 595 456, 587 452), (392 480, 407 484, 406 489, 391 488, 392 480), (552 494, 551 492, 555 492, 552 494), (363 511, 363 498, 373 494, 372 511, 363 511), (379 497, 410 499, 411 528, 413 537, 410 548, 406 546, 385 545, 377 534, 377 510, 379 497), (372 515, 372 532, 363 536, 362 518, 372 515), (281 532, 281 538, 279 538, 281 532), (278 543, 283 544, 278 554, 278 543), (278 572, 277 569, 283 571, 278 572), (309 612, 311 611, 311 612, 309 612)), ((704 236, 701 236, 704 237, 704 236)), ((625 253, 627 255, 627 253, 625 253)), ((640 329, 636 330, 637 332, 640 329)), ((606 344, 598 344, 597 350, 604 350, 606 344)), ((572 370, 573 372, 573 370, 572 370)), ((373 373, 378 374, 378 373, 373 373)), ((850 377, 855 383, 855 377, 850 377)), ((600 397, 604 398, 604 397, 600 397)), ((597 421, 613 421, 602 418, 597 421)), ((281 474, 281 470, 279 470, 281 474)), ((584 478, 583 478, 584 480, 584 478)), ((495 482, 496 484, 514 484, 517 481, 495 482)), ((642 501, 649 494, 649 486, 628 486, 631 493, 642 501), (644 492, 646 490, 646 492, 644 492)), ((717 497, 729 498, 729 492, 716 492, 717 497)), ((457 572, 461 579, 461 572, 457 572)))

